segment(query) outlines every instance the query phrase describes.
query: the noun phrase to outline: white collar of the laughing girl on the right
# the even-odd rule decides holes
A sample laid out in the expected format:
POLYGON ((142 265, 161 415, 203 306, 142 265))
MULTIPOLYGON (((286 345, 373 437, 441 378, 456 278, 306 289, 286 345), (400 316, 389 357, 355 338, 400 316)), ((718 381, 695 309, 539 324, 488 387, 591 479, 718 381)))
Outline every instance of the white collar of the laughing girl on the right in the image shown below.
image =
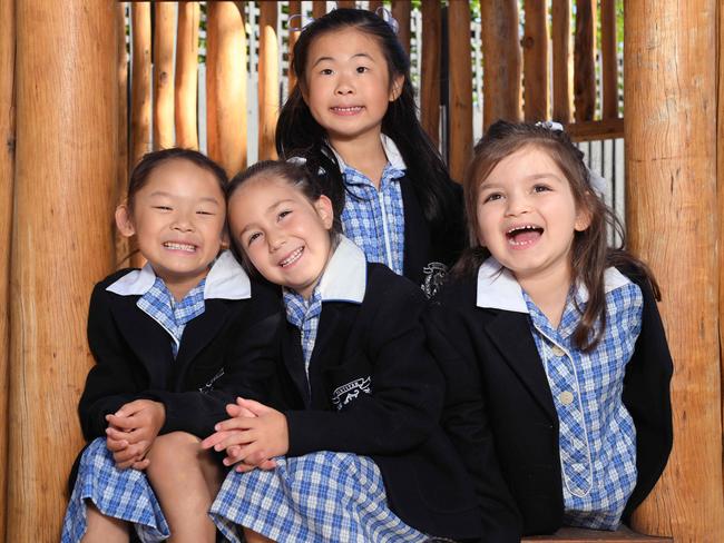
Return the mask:
MULTIPOLYGON (((630 280, 616 268, 606 268, 604 272, 604 292, 615 290, 630 280)), ((588 289, 585 285, 578 286, 578 299, 588 300, 588 289)), ((478 269, 478 296, 476 305, 491 309, 528 313, 528 306, 522 297, 522 288, 512 273, 503 268, 493 257, 488 258, 478 269)))

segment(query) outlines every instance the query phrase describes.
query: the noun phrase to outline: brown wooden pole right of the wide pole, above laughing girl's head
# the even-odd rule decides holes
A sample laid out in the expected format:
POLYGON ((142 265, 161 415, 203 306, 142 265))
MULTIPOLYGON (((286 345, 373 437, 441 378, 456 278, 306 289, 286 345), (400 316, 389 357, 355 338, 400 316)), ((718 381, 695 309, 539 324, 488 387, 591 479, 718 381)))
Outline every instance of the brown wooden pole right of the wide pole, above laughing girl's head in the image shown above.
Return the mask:
POLYGON ((525 118, 548 118, 548 10, 547 2, 526 0, 526 33, 522 38, 525 118))

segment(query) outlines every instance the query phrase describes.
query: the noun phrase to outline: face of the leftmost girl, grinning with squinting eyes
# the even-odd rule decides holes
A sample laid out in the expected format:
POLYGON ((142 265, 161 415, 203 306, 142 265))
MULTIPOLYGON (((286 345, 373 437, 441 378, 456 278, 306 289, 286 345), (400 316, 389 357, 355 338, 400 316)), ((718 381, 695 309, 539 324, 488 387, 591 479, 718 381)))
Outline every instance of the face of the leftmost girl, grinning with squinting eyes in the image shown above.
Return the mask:
POLYGON ((168 289, 183 297, 206 276, 219 251, 226 208, 214 175, 184 159, 157 166, 121 205, 116 224, 124 236, 136 234, 140 254, 168 289))

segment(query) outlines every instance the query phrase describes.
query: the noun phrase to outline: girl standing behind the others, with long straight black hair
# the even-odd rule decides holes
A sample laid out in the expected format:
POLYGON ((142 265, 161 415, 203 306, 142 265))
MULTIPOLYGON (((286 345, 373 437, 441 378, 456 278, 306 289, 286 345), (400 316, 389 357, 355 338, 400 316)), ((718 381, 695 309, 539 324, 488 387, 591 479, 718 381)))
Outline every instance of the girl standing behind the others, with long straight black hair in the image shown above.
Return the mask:
POLYGON ((393 28, 336 9, 304 28, 292 66, 299 85, 276 125, 280 156, 322 171, 344 235, 430 295, 463 246, 461 195, 418 121, 393 28))

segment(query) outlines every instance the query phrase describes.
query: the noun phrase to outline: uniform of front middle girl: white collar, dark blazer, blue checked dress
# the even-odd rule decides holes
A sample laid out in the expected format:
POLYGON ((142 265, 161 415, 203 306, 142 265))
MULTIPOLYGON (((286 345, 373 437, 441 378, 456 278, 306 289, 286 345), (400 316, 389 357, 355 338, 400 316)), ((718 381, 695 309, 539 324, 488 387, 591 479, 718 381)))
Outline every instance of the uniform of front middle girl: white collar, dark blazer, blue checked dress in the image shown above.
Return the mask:
POLYGON ((480 535, 472 486, 437 424, 443 385, 423 306, 419 288, 342 237, 303 308, 319 325, 287 302, 299 325, 284 325, 278 375, 287 455, 272 472, 229 473, 217 521, 278 542, 480 535))

